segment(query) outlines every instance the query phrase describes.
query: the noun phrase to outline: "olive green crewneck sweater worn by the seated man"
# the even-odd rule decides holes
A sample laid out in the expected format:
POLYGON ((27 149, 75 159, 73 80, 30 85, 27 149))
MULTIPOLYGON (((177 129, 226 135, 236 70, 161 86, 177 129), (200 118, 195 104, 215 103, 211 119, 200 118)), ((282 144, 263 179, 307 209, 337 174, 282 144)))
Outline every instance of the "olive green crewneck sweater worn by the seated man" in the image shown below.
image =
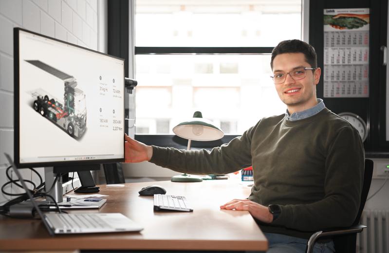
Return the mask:
POLYGON ((309 238, 309 232, 352 224, 364 159, 358 131, 324 108, 297 121, 284 114, 263 118, 211 151, 153 146, 150 162, 191 174, 225 174, 252 165, 248 199, 281 206, 276 220, 260 224, 262 231, 309 238))

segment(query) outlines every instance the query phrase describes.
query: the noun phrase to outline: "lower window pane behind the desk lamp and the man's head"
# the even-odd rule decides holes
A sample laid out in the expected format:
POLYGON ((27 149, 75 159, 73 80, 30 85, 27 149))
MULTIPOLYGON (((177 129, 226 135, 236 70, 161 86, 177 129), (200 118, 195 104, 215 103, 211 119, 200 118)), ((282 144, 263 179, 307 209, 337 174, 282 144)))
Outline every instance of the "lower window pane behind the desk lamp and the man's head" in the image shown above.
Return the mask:
POLYGON ((260 118, 286 110, 270 78, 270 55, 154 54, 135 60, 137 134, 173 134, 197 110, 226 134, 242 134, 260 118))

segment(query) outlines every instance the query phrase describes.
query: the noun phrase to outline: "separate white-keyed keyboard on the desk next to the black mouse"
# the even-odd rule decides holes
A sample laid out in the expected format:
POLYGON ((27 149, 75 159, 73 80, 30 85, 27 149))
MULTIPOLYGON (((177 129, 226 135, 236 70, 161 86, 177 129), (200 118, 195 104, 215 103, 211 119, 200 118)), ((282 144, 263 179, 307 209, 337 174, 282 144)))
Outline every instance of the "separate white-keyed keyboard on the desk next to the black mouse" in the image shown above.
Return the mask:
POLYGON ((183 196, 154 194, 154 211, 161 210, 193 212, 193 209, 183 196))

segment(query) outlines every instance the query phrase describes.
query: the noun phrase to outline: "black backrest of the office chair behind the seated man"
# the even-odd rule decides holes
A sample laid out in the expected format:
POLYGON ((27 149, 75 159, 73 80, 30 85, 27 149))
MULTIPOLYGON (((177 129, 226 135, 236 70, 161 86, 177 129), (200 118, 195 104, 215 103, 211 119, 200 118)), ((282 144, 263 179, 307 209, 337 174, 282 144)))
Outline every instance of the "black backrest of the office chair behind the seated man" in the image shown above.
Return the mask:
MULTIPOLYGON (((358 214, 355 217, 352 226, 359 224, 361 219, 363 208, 365 207, 366 199, 368 197, 371 178, 373 176, 373 161, 370 159, 365 160, 365 171, 363 176, 363 186, 361 194, 361 203, 359 204, 358 214)), ((333 237, 335 244, 335 252, 341 253, 355 253, 356 252, 356 234, 338 235, 333 237)))

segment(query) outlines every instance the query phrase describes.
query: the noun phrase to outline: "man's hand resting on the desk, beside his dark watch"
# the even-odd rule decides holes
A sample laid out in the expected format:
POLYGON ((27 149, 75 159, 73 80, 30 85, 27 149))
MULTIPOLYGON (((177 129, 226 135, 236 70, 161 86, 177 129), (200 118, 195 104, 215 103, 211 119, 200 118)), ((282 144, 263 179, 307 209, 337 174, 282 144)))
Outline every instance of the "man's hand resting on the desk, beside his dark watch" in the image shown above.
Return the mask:
POLYGON ((260 205, 248 199, 234 199, 220 206, 220 209, 249 211, 252 217, 257 218, 262 222, 270 223, 273 221, 273 215, 269 212, 267 206, 260 205))

